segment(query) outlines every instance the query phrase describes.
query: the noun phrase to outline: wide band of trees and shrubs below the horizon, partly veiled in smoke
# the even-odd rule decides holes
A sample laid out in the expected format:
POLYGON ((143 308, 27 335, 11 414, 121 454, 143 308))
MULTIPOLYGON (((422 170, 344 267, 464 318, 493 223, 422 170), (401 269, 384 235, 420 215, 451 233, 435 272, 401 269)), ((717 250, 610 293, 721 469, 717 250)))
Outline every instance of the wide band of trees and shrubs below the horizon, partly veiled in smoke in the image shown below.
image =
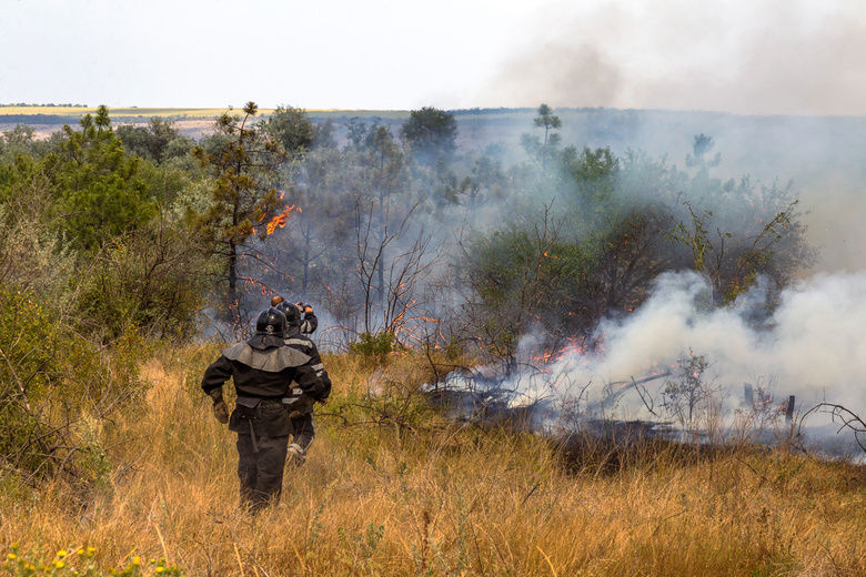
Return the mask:
POLYGON ((563 143, 536 112, 518 143, 483 150, 459 150, 454 114, 433 108, 338 126, 250 103, 199 141, 160 118, 113 129, 104 107, 48 140, 20 124, 0 141, 4 286, 71 298, 102 341, 190 338, 203 313, 242 332, 279 292, 326 315, 336 346, 512 358, 528 332, 555 343, 627 314, 665 271, 705 274, 709 306, 763 279, 769 310, 808 264, 791 185, 715 178, 711 136, 681 169, 563 143), (63 294, 17 277, 36 274, 20 230, 73 271, 63 294))

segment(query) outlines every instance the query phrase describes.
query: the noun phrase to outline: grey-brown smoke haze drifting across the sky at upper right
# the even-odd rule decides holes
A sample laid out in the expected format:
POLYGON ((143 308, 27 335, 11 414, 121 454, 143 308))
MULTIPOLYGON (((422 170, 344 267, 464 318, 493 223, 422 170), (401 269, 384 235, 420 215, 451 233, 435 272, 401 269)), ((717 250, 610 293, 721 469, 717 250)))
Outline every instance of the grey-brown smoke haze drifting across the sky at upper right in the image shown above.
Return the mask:
POLYGON ((866 6, 843 1, 547 4, 481 91, 495 105, 866 113, 866 6))

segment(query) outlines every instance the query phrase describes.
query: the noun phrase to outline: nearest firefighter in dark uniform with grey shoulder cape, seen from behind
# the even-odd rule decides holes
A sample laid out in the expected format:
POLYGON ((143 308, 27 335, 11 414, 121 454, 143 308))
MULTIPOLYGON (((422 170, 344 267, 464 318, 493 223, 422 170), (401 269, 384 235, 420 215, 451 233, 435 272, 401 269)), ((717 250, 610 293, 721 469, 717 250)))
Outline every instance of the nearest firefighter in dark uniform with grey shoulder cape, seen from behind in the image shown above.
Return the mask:
POLYGON ((285 315, 276 308, 263 311, 255 323, 255 335, 222 351, 201 381, 213 399, 213 413, 220 423, 238 433, 238 477, 241 505, 256 513, 276 503, 283 485, 283 468, 292 435, 292 421, 282 399, 294 384, 309 398, 328 395, 309 355, 288 347, 285 315), (236 406, 229 415, 222 386, 234 381, 236 406))

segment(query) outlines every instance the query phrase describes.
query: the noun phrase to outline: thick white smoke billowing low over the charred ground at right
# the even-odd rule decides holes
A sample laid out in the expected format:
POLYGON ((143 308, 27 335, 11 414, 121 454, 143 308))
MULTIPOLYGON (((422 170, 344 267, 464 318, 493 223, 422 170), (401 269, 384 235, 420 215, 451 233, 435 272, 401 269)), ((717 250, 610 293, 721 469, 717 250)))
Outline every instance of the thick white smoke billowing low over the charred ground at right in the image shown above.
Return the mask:
POLYGON ((503 387, 516 392, 517 404, 545 398, 573 406, 580 399, 588 413, 658 421, 665 378, 645 381, 641 392, 633 379, 675 368, 691 351, 709 363, 703 379, 722 402, 724 417, 746 408, 744 383, 772 393, 776 404, 794 395, 796 414, 833 403, 866 415, 866 274, 803 281, 761 323, 754 321, 755 307, 765 306, 761 287, 723 308, 706 305, 708 291, 696 273, 664 274, 643 307, 601 323, 601 353, 575 350, 503 387), (612 397, 612 391, 621 393, 612 397))

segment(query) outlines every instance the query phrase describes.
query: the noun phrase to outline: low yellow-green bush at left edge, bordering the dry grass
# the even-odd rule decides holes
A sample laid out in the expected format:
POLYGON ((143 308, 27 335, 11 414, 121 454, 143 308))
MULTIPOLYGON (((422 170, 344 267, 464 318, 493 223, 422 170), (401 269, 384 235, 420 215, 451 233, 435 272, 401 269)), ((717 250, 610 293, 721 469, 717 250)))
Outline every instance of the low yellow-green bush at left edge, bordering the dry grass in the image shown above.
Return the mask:
POLYGON ((71 422, 58 422, 48 408, 62 405, 66 415, 74 415, 129 396, 147 347, 127 333, 112 345, 111 363, 105 363, 52 304, 31 291, 0 286, 0 455, 27 476, 64 473, 88 480, 78 467, 80 455, 74 453, 81 445, 71 439, 71 422))

